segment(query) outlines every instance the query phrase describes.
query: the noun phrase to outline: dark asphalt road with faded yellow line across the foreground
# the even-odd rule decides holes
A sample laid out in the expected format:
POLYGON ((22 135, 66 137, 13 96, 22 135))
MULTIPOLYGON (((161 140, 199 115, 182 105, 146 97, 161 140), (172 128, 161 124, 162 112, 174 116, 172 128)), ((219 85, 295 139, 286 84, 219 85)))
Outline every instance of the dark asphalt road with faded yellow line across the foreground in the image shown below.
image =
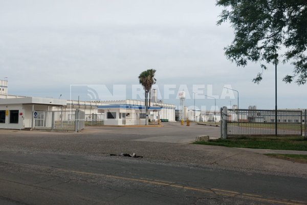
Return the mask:
POLYGON ((119 156, 1 152, 0 172, 1 204, 307 203, 307 179, 119 156))

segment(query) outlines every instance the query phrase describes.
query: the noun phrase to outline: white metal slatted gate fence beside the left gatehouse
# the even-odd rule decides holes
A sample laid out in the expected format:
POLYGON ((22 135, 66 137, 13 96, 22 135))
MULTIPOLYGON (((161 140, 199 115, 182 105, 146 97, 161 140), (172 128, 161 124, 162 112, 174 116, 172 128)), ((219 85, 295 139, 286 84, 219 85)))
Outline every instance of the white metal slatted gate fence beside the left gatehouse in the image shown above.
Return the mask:
POLYGON ((79 131, 84 129, 85 114, 75 111, 34 111, 32 129, 79 131))

